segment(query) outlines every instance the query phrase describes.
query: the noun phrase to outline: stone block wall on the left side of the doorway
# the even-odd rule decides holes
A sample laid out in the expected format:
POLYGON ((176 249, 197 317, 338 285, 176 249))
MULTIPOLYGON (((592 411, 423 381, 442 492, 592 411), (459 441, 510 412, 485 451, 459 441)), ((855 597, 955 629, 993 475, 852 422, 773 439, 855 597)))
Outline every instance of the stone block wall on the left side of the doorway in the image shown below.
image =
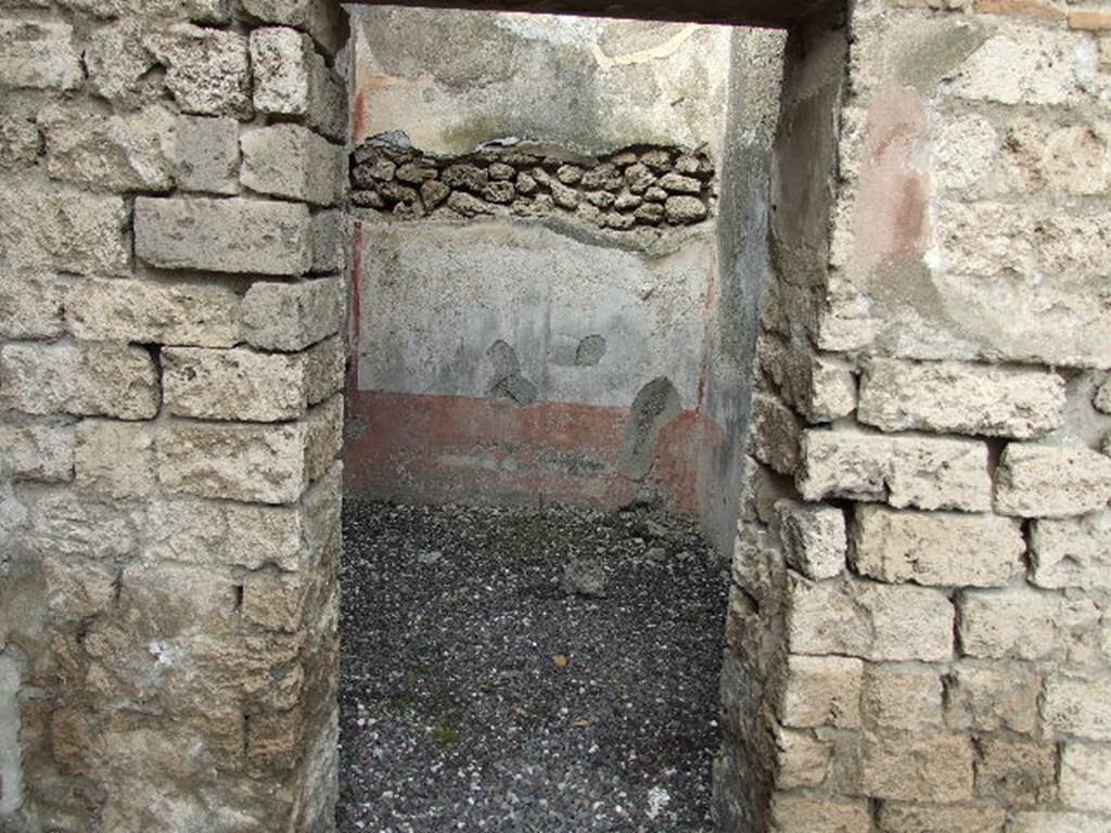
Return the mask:
POLYGON ((0 827, 327 830, 338 6, 0 3, 0 827))

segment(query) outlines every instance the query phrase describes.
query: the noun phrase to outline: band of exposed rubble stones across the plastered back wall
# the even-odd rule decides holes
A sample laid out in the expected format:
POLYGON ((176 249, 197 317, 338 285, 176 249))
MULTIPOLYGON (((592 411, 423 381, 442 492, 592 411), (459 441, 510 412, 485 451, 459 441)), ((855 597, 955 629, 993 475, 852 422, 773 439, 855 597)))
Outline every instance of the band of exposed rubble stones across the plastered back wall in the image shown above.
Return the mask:
POLYGON ((397 218, 564 215, 613 231, 695 224, 715 201, 713 162, 701 151, 628 148, 591 158, 522 143, 441 157, 400 132, 356 149, 351 187, 357 208, 397 218))

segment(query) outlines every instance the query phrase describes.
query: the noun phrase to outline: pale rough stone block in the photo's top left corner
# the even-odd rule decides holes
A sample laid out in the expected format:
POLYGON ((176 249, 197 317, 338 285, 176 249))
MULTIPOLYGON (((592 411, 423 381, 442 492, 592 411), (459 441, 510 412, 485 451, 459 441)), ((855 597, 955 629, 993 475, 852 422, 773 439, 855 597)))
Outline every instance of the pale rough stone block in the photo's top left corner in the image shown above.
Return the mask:
POLYGON ((83 80, 69 23, 0 19, 0 87, 72 90, 83 80))

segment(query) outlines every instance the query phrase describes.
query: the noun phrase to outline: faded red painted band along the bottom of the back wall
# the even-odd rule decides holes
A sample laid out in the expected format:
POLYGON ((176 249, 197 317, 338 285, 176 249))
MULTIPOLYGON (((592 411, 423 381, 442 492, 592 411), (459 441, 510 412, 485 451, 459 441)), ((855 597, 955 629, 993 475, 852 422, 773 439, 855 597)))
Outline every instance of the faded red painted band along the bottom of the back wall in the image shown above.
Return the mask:
POLYGON ((629 412, 620 408, 351 391, 344 489, 432 503, 564 503, 614 509, 657 499, 698 511, 702 418, 660 433, 642 481, 621 474, 629 412))

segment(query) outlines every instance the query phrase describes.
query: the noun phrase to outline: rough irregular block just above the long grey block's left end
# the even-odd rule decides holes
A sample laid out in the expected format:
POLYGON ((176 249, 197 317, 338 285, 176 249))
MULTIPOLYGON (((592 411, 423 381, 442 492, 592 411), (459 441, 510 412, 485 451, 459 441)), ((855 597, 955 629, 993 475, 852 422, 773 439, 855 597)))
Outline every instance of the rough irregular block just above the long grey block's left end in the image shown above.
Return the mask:
POLYGON ((109 116, 54 107, 39 117, 51 178, 109 191, 169 191, 174 118, 162 107, 109 116))

